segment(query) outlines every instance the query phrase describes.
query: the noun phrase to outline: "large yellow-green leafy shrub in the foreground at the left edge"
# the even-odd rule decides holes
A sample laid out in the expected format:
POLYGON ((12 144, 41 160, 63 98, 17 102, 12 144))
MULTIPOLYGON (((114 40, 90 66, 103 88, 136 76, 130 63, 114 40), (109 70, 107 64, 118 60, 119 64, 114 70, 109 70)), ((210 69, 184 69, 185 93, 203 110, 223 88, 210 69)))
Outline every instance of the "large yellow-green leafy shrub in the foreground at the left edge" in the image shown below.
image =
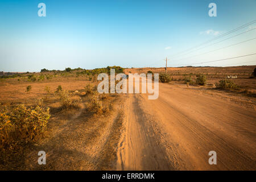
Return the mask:
POLYGON ((8 146, 18 140, 35 140, 47 130, 51 115, 49 108, 14 106, 1 110, 0 146, 8 146))

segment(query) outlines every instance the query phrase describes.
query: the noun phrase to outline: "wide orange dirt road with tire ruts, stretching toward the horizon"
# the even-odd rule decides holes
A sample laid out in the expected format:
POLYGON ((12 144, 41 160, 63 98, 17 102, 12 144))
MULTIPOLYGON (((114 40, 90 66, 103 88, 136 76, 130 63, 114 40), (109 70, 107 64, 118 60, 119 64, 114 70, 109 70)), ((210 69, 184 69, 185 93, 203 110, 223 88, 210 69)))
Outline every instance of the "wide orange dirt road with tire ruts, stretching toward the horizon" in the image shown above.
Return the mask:
POLYGON ((157 100, 129 94, 125 106, 117 169, 256 169, 255 100, 159 84, 157 100))

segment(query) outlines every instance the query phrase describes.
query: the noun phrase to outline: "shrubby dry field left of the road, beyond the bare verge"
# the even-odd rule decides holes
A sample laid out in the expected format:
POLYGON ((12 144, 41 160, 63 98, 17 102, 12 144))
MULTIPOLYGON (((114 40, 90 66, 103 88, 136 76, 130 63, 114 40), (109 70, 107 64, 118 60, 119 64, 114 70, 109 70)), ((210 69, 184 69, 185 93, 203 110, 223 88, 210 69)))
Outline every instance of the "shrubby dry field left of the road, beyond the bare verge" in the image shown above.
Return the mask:
POLYGON ((20 99, 0 102, 0 169, 24 165, 22 160, 31 146, 40 145, 69 119, 75 121, 82 115, 85 122, 89 118, 97 122, 98 118, 109 116, 118 94, 98 94, 96 78, 99 73, 109 74, 111 68, 115 73, 123 72, 123 68, 114 66, 92 70, 42 69, 40 73, 0 76, 1 82, 23 85, 16 87, 21 88, 20 99), (84 82, 84 88, 73 90, 69 85, 76 85, 76 81, 84 82))

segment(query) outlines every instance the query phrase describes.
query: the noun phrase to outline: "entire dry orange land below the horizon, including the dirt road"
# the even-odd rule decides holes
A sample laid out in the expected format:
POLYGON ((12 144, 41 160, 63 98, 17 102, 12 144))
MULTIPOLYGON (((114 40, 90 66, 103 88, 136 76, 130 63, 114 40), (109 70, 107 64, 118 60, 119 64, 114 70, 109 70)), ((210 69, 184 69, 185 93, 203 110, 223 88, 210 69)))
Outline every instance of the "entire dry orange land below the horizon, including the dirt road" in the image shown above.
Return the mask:
POLYGON ((110 67, 2 76, 0 169, 255 170, 254 68, 168 68, 157 100, 99 94, 96 77, 110 67), (209 165, 209 151, 217 165, 209 165))

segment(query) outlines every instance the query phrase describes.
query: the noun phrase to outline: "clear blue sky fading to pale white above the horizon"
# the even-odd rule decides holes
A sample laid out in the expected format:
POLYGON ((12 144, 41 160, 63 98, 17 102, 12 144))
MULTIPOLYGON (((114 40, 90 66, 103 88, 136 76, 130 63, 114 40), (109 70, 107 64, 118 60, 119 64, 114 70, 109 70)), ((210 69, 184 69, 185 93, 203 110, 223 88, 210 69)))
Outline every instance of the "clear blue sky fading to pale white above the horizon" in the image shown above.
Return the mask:
MULTIPOLYGON (((0 71, 93 69, 108 65, 164 67, 166 56, 170 58, 168 65, 179 66, 247 55, 256 52, 255 39, 181 60, 254 38, 256 30, 172 58, 255 19, 255 0, 1 0, 0 71), (38 16, 40 2, 46 4, 46 17, 38 16), (217 5, 217 17, 208 15, 211 2, 217 5)), ((256 23, 229 36, 255 27, 256 23)), ((255 64, 254 55, 199 65, 255 64)))

